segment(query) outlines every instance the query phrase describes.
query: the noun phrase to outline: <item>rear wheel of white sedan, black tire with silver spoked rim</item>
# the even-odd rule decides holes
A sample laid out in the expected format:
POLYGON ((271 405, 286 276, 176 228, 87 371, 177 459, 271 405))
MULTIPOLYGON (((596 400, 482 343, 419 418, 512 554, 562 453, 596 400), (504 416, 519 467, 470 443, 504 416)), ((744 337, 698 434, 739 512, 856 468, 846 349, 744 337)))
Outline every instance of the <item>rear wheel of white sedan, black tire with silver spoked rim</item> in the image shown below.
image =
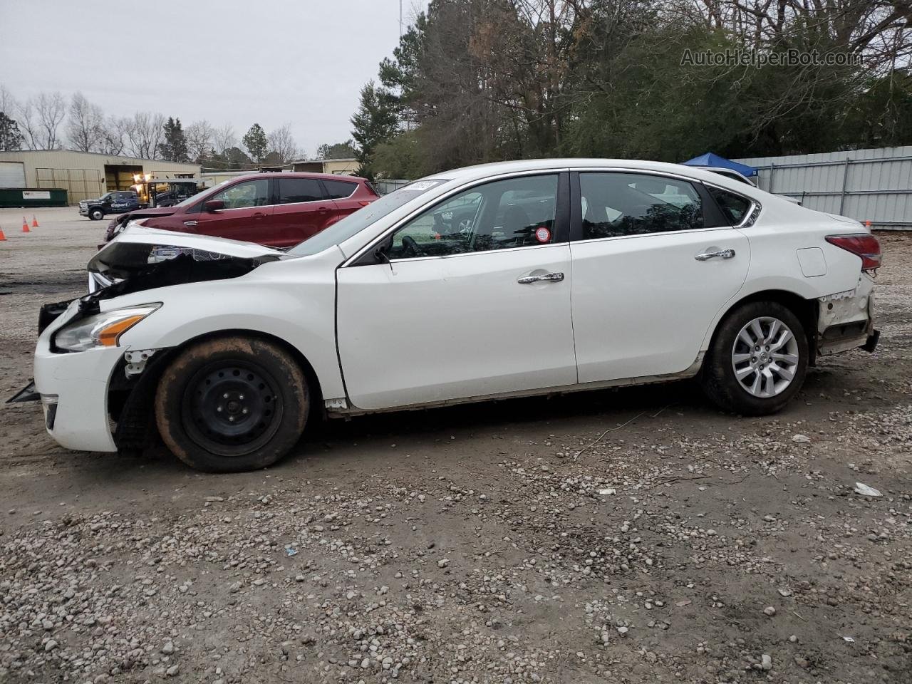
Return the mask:
POLYGON ((703 390, 722 410, 769 415, 801 389, 807 360, 798 316, 778 302, 751 302, 720 323, 703 366, 703 390))

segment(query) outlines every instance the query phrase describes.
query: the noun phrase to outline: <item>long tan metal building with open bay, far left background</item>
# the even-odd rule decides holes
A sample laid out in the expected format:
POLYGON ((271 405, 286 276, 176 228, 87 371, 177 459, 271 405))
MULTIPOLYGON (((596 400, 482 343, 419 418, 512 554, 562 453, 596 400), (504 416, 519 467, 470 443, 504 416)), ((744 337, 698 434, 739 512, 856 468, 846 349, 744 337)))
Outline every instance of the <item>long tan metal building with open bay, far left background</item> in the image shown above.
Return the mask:
POLYGON ((198 178, 200 165, 74 150, 0 152, 0 188, 63 188, 71 204, 112 190, 129 190, 139 173, 157 178, 193 173, 198 178))

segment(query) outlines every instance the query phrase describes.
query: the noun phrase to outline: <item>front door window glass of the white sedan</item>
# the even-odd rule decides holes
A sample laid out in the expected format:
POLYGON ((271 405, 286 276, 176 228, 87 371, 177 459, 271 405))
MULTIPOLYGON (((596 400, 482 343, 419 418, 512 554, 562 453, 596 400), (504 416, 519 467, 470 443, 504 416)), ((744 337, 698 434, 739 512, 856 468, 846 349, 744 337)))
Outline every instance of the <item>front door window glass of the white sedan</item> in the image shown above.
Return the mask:
POLYGON ((488 252, 554 242, 557 174, 493 181, 461 192, 393 233, 390 259, 488 252))

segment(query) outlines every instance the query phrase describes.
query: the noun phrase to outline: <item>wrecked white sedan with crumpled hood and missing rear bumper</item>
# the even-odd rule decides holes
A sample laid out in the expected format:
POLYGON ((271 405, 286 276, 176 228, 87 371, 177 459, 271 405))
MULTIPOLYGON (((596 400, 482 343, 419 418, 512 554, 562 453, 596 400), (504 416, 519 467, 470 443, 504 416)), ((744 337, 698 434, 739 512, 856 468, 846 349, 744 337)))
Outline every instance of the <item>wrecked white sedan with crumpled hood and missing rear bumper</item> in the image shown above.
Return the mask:
POLYGON ((873 350, 879 264, 861 224, 712 171, 488 164, 287 253, 130 225, 89 264, 113 285, 43 308, 35 384, 69 449, 158 430, 217 472, 274 463, 321 414, 696 376, 761 415, 818 355, 873 350))

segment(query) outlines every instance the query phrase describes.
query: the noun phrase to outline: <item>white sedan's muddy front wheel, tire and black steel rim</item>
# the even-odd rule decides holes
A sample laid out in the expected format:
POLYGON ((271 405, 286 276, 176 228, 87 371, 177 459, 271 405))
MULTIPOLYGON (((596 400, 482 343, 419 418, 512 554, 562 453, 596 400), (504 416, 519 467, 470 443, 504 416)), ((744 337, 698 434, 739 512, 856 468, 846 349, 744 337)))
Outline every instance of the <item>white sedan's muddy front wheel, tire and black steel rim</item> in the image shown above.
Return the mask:
POLYGON ((309 391, 282 347, 255 337, 222 337, 187 347, 155 393, 161 439, 205 472, 265 468, 304 431, 309 391))

